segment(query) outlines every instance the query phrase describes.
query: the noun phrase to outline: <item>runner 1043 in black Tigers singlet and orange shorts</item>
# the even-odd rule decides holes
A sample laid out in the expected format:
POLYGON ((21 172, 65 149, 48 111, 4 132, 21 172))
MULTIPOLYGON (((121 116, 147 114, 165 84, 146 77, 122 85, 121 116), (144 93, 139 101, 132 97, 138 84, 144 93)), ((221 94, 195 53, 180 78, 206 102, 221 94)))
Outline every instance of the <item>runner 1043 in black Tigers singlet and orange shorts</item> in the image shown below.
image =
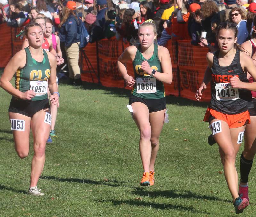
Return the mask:
POLYGON ((204 121, 209 121, 213 138, 219 145, 225 179, 238 214, 249 205, 249 201, 238 194, 235 161, 245 125, 250 122, 248 108, 253 105, 251 91, 256 90, 256 83, 249 83, 245 72, 255 79, 256 67, 248 55, 237 49, 235 24, 221 23, 216 38, 220 50, 206 55, 208 68, 196 92, 196 99, 201 99, 206 84, 211 81, 211 101, 204 121))

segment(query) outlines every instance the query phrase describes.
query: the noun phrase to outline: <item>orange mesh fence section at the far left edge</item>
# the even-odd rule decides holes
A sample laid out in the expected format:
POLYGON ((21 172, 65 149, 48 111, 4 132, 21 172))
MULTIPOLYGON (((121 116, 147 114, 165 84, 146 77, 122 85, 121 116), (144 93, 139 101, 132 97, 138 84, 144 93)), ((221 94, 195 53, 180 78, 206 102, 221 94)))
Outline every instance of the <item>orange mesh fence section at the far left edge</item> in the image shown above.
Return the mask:
POLYGON ((4 68, 12 57, 12 41, 11 41, 11 27, 6 23, 0 25, 1 39, 0 39, 0 67, 4 68))

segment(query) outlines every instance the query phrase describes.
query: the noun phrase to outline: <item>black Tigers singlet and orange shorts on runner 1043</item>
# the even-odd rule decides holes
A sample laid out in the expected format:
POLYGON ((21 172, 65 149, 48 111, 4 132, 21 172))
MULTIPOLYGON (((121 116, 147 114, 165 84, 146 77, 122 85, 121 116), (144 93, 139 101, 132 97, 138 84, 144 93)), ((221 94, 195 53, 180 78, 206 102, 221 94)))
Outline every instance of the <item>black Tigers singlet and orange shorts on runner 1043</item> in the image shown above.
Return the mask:
POLYGON ((204 121, 210 121, 218 117, 218 119, 230 123, 229 128, 241 127, 250 122, 248 103, 253 106, 252 95, 249 90, 232 88, 230 79, 237 76, 240 81, 248 82, 247 74, 241 68, 239 50, 236 50, 235 57, 229 66, 219 65, 219 52, 216 51, 213 57, 211 69, 212 96, 204 121))

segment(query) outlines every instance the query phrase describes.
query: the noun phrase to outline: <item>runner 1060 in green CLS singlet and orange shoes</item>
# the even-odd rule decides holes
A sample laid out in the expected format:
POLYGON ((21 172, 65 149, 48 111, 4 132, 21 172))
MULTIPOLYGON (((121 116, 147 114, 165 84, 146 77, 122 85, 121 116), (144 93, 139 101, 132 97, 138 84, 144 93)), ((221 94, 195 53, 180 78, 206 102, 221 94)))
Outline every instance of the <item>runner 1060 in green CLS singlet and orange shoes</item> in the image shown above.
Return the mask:
POLYGON ((129 104, 140 131, 140 156, 144 173, 141 186, 154 184, 154 164, 163 128, 166 101, 163 83, 172 83, 172 64, 167 48, 158 46, 156 25, 145 21, 138 29, 139 46, 129 46, 118 58, 117 67, 126 85, 133 87, 129 104), (135 79, 125 63, 132 60, 135 79))

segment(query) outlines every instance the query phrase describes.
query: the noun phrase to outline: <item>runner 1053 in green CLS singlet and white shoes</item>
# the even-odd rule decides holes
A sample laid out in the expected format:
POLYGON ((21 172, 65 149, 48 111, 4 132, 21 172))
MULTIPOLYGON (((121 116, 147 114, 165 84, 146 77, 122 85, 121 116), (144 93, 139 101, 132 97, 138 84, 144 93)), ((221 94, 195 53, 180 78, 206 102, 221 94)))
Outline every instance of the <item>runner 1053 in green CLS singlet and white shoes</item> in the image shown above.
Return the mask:
POLYGON ((28 156, 30 128, 32 129, 34 156, 29 194, 43 195, 37 188, 37 182, 44 168, 46 140, 51 127, 48 88, 52 93, 51 105, 59 104, 56 84, 57 62, 54 55, 41 47, 44 36, 39 24, 28 24, 25 35, 29 47, 20 50, 12 57, 4 69, 0 84, 12 95, 9 118, 15 150, 20 158, 28 156), (15 75, 15 87, 10 82, 13 75, 15 75))

